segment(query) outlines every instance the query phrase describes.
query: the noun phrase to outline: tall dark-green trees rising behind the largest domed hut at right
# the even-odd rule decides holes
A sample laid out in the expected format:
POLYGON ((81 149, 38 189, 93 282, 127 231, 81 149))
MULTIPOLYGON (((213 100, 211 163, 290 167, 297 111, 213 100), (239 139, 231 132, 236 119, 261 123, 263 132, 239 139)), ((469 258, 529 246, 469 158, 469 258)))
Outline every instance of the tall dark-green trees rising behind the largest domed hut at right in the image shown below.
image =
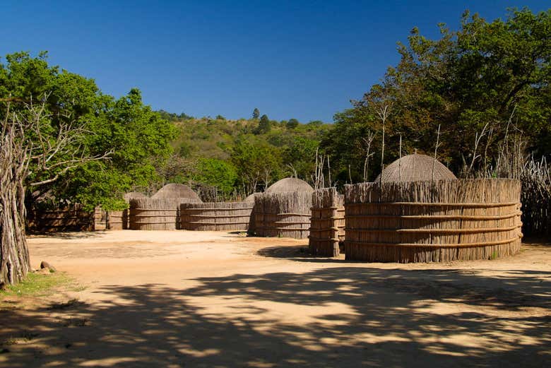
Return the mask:
POLYGON ((354 102, 351 110, 336 115, 335 129, 323 146, 341 174, 349 165, 353 177, 361 171, 368 131, 376 133, 372 152, 379 154, 382 132, 377 109, 383 101, 391 105, 386 162, 396 158, 400 135, 403 152, 433 152, 439 125, 439 159, 455 172, 470 160, 478 170, 493 165, 506 134, 513 131, 523 131, 529 150, 538 155, 549 152, 545 150, 551 126, 551 10, 538 14, 526 8, 514 10, 505 20, 492 22, 465 13, 460 30, 439 28, 437 40, 414 28, 408 44, 398 47, 399 64, 389 68, 381 83, 354 102), (482 131, 479 150, 473 153, 482 131))

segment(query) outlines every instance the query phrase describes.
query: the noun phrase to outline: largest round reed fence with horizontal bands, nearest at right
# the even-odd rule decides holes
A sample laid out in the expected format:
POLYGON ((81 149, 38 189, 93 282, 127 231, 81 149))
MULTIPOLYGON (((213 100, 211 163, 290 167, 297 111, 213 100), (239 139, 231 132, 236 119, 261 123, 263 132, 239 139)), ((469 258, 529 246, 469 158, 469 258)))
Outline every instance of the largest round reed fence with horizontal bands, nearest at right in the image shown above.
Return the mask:
POLYGON ((362 183, 345 189, 346 259, 496 259, 521 248, 521 183, 514 179, 362 183))

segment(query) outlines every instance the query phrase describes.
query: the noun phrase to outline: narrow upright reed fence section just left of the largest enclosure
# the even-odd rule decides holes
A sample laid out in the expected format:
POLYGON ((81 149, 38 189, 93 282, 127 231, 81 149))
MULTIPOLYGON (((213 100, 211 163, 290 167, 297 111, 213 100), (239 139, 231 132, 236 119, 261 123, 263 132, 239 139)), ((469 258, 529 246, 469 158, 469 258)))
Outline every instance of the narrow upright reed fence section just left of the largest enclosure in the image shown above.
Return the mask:
POLYGON ((312 220, 308 249, 315 256, 336 257, 345 237, 344 196, 335 188, 312 193, 312 220))

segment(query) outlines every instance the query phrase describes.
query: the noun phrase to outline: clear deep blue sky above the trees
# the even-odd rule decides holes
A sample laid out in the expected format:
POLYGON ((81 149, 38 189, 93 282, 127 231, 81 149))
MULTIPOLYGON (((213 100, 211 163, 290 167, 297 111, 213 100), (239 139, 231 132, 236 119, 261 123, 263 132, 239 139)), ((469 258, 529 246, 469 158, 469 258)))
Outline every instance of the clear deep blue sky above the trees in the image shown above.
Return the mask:
POLYGON ((396 65, 414 26, 437 37, 465 9, 488 20, 548 1, 11 1, 0 55, 49 52, 117 97, 196 117, 332 121, 396 65))

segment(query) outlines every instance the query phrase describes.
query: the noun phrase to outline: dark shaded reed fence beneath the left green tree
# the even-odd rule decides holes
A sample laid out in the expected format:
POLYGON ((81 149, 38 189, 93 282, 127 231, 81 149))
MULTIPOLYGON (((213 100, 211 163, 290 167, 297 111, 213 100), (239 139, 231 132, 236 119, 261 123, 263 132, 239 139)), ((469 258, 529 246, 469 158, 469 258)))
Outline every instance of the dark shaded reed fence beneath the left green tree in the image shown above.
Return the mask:
POLYGON ((29 214, 28 229, 35 232, 92 231, 105 229, 105 218, 99 208, 85 211, 81 205, 53 210, 35 210, 29 214), (95 221, 97 220, 97 225, 95 221))

